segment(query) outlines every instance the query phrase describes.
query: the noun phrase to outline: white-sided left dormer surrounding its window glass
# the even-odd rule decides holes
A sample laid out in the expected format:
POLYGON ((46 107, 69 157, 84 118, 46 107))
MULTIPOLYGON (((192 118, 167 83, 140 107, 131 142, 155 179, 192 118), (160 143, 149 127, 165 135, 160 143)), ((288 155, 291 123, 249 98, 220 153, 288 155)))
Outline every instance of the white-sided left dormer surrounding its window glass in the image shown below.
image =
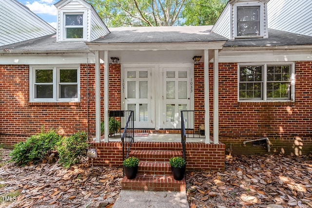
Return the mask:
POLYGON ((54 4, 57 7, 57 41, 92 41, 107 35, 108 28, 98 16, 97 11, 85 0, 60 0, 54 4), (83 21, 83 37, 66 37, 66 15, 80 15, 83 21))

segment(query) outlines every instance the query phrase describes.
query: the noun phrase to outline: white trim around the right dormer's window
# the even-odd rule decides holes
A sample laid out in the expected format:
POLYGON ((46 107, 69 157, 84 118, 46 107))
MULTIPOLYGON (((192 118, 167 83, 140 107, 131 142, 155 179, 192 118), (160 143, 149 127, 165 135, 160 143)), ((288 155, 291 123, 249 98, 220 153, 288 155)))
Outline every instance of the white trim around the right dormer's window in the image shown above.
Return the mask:
POLYGON ((234 4, 234 38, 263 38, 264 37, 264 3, 236 3, 234 4), (260 35, 259 36, 237 36, 237 7, 260 6, 260 35))

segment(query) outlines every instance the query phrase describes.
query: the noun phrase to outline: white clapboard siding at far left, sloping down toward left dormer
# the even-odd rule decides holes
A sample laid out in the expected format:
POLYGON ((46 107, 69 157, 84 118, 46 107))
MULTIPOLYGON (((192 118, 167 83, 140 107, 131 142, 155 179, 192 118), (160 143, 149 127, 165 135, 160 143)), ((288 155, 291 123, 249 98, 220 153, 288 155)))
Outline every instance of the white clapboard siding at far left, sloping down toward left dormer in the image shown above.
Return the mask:
POLYGON ((17 0, 0 0, 0 46, 55 32, 51 25, 17 0))

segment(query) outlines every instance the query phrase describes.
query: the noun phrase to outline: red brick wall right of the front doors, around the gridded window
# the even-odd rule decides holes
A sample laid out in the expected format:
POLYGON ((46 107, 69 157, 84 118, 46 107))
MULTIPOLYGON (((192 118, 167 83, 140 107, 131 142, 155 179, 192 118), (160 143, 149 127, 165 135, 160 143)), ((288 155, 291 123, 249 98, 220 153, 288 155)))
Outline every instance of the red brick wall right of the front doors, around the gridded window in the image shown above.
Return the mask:
MULTIPOLYGON (((238 102, 237 63, 219 63, 219 141, 233 153, 266 153, 261 144, 243 141, 267 136, 271 151, 312 152, 312 61, 295 65, 295 102, 238 102)), ((203 109, 203 63, 195 63, 195 110, 203 109)), ((209 67, 210 132, 213 134, 213 65, 209 67)))

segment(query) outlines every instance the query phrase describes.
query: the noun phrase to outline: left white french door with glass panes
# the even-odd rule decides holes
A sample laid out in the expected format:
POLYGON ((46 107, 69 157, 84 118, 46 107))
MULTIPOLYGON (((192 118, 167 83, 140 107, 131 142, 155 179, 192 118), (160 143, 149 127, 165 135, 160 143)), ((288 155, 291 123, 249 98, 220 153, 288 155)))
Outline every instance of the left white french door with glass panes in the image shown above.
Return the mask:
POLYGON ((125 68, 121 91, 123 109, 134 111, 135 128, 155 128, 151 68, 125 68))

